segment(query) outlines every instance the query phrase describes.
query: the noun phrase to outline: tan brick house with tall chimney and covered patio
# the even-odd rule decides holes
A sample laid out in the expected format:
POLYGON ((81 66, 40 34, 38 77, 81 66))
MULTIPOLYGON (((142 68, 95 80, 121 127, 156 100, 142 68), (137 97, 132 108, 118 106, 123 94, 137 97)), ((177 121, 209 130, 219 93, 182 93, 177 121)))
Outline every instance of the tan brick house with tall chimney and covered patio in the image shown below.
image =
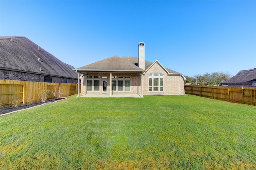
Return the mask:
POLYGON ((82 73, 81 94, 184 95, 184 75, 145 60, 145 43, 139 57, 110 57, 74 69, 82 73), (111 89, 111 91, 110 91, 111 89))

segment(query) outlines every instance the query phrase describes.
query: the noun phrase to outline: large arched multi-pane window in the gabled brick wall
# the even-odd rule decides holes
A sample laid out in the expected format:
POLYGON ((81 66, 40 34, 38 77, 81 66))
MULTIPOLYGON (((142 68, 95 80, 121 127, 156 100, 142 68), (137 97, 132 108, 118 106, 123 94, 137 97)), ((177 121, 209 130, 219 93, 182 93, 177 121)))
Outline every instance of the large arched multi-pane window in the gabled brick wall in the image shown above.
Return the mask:
POLYGON ((164 91, 164 75, 160 73, 148 75, 148 91, 164 91))

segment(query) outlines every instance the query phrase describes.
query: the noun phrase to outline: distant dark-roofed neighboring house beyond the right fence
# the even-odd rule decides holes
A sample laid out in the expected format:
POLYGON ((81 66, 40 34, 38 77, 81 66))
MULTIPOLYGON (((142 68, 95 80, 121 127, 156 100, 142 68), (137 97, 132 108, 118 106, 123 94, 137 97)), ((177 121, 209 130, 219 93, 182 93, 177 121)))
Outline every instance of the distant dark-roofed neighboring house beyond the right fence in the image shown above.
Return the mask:
POLYGON ((239 71, 231 79, 224 81, 222 86, 256 86, 256 68, 239 71))

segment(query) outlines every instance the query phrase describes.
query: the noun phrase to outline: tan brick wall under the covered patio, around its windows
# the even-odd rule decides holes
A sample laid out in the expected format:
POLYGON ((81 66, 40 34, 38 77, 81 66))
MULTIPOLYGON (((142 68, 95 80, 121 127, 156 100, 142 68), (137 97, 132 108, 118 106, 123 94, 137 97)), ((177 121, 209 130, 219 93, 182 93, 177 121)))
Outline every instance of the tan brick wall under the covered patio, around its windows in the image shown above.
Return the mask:
MULTIPOLYGON (((88 73, 87 75, 84 75, 82 77, 81 81, 81 95, 86 95, 86 94, 102 94, 103 93, 103 82, 102 82, 102 76, 107 76, 107 92, 106 94, 110 94, 110 73, 104 73, 104 72, 99 72, 99 73, 88 73), (100 80, 100 91, 87 91, 87 76, 100 76, 100 78, 92 78, 94 79, 99 79, 100 80)), ((112 94, 138 94, 141 95, 141 87, 140 87, 140 82, 141 82, 141 74, 138 73, 112 73, 112 76, 130 76, 130 79, 122 79, 122 80, 130 80, 130 91, 113 91, 112 94)), ((91 79, 91 78, 88 78, 91 79)), ((112 78, 113 80, 113 78, 112 78)), ((118 81, 118 78, 116 79, 118 81)))

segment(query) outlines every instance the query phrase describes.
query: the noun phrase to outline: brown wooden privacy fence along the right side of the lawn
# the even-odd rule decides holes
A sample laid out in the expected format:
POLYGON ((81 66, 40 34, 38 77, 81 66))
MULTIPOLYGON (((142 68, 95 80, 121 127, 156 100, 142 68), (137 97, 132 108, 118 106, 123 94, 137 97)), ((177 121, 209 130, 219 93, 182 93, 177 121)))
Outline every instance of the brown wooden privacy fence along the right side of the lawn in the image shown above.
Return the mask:
POLYGON ((185 85, 185 94, 233 103, 256 105, 256 87, 225 87, 185 85))

